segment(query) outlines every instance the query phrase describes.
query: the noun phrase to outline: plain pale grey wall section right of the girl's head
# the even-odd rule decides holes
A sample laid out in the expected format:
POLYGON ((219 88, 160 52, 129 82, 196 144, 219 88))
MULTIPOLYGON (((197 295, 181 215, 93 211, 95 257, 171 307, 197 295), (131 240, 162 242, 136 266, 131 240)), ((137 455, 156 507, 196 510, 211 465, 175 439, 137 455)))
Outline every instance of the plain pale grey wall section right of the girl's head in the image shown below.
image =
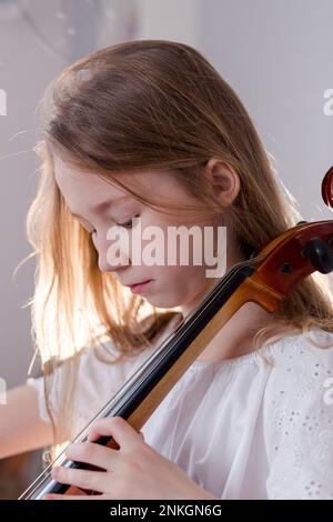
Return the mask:
POLYGON ((332 0, 209 0, 200 47, 236 90, 305 219, 331 219, 321 200, 333 164, 332 0), (322 209, 324 211, 322 212, 322 209))

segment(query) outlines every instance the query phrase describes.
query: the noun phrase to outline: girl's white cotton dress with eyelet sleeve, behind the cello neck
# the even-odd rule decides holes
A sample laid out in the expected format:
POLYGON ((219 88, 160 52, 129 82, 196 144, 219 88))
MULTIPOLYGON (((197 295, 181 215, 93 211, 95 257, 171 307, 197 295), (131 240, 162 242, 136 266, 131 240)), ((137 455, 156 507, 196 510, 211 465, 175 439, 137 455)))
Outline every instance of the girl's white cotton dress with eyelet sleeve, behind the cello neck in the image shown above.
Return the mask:
MULTIPOLYGON (((174 322, 169 328, 158 345, 174 322)), ((333 343, 333 334, 319 329, 311 339, 333 343)), ((155 348, 114 365, 83 351, 77 432, 155 348)), ((61 369, 57 373, 52 403, 61 369)), ((48 422, 42 381, 27 382, 38 390, 40 415, 48 422)), ((296 334, 236 359, 195 361, 142 432, 147 443, 219 499, 332 500, 333 348, 315 348, 296 334)))

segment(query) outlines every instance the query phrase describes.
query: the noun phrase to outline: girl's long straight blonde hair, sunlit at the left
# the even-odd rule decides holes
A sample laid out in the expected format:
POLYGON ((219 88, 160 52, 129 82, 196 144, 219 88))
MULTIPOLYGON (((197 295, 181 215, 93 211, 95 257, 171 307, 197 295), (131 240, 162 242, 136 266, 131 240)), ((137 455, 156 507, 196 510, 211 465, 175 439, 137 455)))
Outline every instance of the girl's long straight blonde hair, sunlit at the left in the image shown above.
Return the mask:
MULTIPOLYGON (((140 310, 147 302, 125 294, 112 273, 98 269, 90 235, 72 218, 54 181, 54 152, 79 167, 82 175, 95 172, 130 193, 134 192, 122 185, 121 175, 114 180, 113 174, 169 169, 208 213, 225 209, 214 201, 202 169, 210 158, 223 160, 241 179, 240 193, 226 210, 244 259, 297 219, 242 102, 209 61, 186 44, 142 40, 91 53, 56 78, 41 113, 44 135, 36 148, 42 161, 40 187, 27 228, 38 258, 32 332, 49 404, 59 361, 74 364, 83 347, 110 339, 118 348, 118 362, 153 342, 176 313, 150 305, 143 320, 140 310)), ((317 274, 299 284, 278 313, 303 332, 313 327, 333 332, 332 293, 317 274)), ((258 342, 263 333, 258 332, 258 342)), ((58 429, 72 418, 75 371, 74 365, 69 368, 54 421, 58 429)))

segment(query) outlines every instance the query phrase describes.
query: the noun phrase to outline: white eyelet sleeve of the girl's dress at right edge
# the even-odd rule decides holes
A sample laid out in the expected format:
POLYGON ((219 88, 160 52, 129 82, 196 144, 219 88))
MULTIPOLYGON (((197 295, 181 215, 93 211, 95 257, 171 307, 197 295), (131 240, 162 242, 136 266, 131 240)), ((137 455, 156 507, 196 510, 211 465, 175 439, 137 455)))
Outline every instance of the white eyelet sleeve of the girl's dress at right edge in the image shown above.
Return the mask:
MULTIPOLYGON (((333 340, 324 331, 319 338, 323 345, 333 340)), ((283 352, 264 401, 268 498, 332 500, 333 348, 315 348, 300 335, 283 352)))

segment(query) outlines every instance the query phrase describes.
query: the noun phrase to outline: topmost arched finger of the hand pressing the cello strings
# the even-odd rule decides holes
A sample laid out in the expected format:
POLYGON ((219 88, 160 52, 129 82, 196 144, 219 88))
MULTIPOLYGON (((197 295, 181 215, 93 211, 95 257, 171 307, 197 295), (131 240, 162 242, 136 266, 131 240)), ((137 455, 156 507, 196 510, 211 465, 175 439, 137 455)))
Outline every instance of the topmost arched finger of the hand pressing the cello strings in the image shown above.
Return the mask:
POLYGON ((138 441, 142 442, 142 438, 139 436, 138 431, 121 416, 110 416, 109 419, 98 420, 92 425, 88 439, 89 441, 94 441, 101 435, 111 435, 120 448, 122 445, 129 446, 137 444, 138 441))

